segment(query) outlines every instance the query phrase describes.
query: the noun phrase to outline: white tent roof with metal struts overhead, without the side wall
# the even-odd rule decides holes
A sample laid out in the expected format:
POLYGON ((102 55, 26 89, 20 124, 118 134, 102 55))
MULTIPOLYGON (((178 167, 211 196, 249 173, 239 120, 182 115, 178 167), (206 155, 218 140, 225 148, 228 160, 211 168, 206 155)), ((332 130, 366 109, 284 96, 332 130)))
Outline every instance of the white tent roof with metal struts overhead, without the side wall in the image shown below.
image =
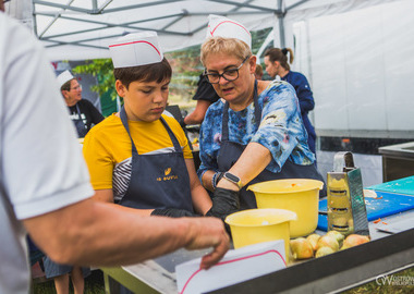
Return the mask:
MULTIPOLYGON (((156 30, 165 51, 203 42, 208 14, 226 15, 251 30, 275 27, 277 42, 293 42, 293 22, 391 0, 13 0, 25 2, 26 23, 51 60, 108 58, 108 45, 125 33, 156 30), (29 5, 32 2, 32 5, 29 5), (32 11, 33 10, 33 11, 32 11), (34 16, 32 16, 34 15, 34 16)), ((24 16, 17 15, 17 19, 24 16)))

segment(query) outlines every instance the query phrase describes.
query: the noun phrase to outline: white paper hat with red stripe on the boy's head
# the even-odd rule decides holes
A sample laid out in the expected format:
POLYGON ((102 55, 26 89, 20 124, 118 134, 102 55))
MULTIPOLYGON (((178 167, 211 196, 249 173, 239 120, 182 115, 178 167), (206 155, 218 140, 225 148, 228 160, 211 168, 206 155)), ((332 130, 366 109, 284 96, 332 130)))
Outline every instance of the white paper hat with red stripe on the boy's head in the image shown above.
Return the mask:
POLYGON ((163 59, 157 33, 153 30, 134 33, 109 45, 113 68, 130 68, 158 63, 163 59))

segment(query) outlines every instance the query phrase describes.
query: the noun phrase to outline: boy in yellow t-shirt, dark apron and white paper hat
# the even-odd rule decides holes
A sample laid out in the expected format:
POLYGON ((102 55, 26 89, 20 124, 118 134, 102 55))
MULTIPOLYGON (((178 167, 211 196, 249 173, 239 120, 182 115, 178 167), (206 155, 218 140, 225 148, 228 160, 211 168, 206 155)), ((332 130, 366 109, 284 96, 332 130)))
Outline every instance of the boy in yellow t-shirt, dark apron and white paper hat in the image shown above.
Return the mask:
POLYGON ((109 48, 124 106, 85 137, 94 197, 142 215, 206 215, 211 199, 197 177, 188 142, 179 122, 162 115, 172 70, 156 33, 130 34, 109 48))

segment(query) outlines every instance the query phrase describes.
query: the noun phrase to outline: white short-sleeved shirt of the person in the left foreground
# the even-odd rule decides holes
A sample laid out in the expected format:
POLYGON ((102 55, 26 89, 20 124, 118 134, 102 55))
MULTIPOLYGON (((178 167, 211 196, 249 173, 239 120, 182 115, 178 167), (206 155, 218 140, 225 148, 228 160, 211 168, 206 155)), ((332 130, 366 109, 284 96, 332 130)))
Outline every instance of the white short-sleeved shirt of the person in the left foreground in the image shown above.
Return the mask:
POLYGON ((94 191, 51 64, 31 32, 0 12, 0 293, 28 293, 21 220, 94 191))

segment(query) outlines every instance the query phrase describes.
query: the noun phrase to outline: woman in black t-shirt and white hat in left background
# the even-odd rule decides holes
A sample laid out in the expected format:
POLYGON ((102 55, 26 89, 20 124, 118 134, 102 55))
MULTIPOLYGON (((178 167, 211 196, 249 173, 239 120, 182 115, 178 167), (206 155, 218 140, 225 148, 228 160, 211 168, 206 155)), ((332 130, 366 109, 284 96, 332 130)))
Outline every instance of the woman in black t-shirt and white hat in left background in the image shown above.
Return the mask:
POLYGON ((60 90, 69 108, 69 117, 74 123, 77 136, 83 138, 90 127, 104 120, 102 114, 92 102, 82 99, 82 86, 70 71, 64 71, 58 76, 60 90))

